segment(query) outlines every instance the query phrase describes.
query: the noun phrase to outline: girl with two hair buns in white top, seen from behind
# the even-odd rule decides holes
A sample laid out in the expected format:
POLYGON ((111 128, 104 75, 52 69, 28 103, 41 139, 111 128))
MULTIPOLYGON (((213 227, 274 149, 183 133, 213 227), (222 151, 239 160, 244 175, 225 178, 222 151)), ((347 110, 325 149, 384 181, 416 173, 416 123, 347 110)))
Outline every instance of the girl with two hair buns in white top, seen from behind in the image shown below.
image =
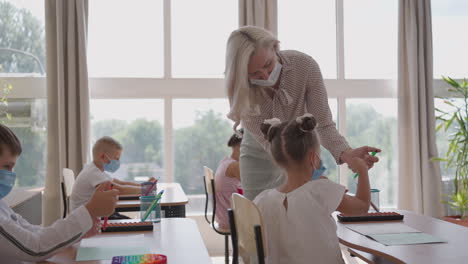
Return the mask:
POLYGON ((343 186, 330 180, 311 180, 311 172, 320 168, 315 126, 311 114, 261 126, 275 162, 287 174, 284 185, 265 190, 254 200, 264 221, 266 263, 344 263, 331 214, 369 209, 369 177, 362 159, 349 164, 359 174, 356 196, 346 195, 343 186))

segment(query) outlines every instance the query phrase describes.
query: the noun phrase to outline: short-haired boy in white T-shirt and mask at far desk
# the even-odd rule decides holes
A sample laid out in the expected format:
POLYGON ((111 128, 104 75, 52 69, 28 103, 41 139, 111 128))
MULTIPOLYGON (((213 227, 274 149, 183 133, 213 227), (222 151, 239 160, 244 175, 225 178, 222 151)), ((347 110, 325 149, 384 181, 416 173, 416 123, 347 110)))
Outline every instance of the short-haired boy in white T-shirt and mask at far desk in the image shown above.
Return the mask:
POLYGON ((84 166, 73 185, 71 210, 85 204, 96 187, 105 181, 112 181, 113 188, 121 195, 141 193, 141 184, 113 179, 106 173, 119 169, 122 149, 122 145, 111 137, 102 137, 96 141, 93 146, 93 161, 84 166))

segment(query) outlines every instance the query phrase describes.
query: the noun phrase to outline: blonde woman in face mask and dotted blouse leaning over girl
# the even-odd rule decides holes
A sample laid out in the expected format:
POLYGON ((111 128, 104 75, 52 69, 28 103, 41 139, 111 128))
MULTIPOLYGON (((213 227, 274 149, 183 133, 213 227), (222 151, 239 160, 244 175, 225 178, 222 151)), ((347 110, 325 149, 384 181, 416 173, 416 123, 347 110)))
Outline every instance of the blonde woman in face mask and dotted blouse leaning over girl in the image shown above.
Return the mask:
POLYGON ((240 123, 244 128, 240 174, 247 198, 253 200, 263 190, 285 182, 284 173, 268 154, 269 143, 260 130, 265 119, 284 121, 311 113, 317 120, 321 144, 337 164, 349 164, 358 157, 371 168, 378 161, 369 152, 380 152, 379 149, 353 149, 338 133, 317 62, 299 51, 281 51, 278 39, 265 29, 246 26, 231 33, 225 83, 231 106, 228 117, 235 122, 234 129, 240 123))

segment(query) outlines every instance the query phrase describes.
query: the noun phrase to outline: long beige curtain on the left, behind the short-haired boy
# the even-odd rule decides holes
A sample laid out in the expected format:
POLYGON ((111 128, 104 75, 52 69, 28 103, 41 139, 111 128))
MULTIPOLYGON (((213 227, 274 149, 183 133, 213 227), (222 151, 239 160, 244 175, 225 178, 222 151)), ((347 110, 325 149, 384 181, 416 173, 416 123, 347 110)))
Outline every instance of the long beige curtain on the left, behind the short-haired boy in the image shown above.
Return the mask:
POLYGON ((89 150, 89 89, 86 63, 87 0, 46 0, 47 176, 42 223, 62 216, 62 169, 75 173, 89 150))

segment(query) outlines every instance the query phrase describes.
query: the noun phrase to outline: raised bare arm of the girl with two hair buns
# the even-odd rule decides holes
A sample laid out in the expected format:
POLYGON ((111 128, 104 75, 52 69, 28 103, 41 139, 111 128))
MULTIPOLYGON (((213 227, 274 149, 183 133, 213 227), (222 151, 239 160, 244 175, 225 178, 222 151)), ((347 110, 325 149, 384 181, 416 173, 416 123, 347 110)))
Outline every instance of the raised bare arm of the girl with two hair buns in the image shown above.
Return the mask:
POLYGON ((359 174, 356 196, 343 195, 337 210, 344 214, 362 214, 369 211, 370 185, 367 165, 364 160, 354 158, 349 164, 350 168, 359 174))

